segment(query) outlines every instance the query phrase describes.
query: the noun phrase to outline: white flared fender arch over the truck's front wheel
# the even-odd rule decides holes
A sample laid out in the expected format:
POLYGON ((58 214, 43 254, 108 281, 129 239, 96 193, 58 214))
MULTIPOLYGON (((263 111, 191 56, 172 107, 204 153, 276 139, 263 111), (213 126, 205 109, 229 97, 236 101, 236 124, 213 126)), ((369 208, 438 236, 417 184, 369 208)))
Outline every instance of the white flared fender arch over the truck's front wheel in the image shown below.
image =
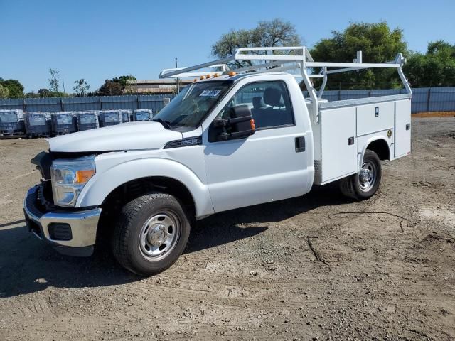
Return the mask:
POLYGON ((213 214, 208 186, 188 167, 165 158, 139 158, 119 163, 102 173, 96 173, 82 188, 76 207, 101 205, 107 195, 119 185, 152 176, 173 178, 183 183, 193 196, 196 217, 213 214))

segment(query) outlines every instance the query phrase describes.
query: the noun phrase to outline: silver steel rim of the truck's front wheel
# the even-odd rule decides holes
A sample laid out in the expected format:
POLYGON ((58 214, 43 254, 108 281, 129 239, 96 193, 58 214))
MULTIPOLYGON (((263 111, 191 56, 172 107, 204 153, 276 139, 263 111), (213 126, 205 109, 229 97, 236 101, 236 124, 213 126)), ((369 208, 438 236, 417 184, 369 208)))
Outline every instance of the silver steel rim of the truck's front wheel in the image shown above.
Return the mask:
POLYGON ((173 212, 156 213, 147 220, 139 234, 141 254, 149 261, 159 261, 169 254, 178 242, 181 223, 173 212))

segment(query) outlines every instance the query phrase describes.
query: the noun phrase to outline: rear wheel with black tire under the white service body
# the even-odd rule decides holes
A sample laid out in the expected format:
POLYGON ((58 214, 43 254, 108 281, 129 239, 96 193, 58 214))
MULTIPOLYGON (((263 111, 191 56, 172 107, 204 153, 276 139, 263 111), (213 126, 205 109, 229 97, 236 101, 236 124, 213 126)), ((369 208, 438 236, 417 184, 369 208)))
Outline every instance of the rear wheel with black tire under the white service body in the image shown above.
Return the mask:
POLYGON ((375 195, 381 181, 381 163, 374 151, 367 150, 363 156, 362 168, 340 182, 343 195, 355 200, 365 200, 375 195))

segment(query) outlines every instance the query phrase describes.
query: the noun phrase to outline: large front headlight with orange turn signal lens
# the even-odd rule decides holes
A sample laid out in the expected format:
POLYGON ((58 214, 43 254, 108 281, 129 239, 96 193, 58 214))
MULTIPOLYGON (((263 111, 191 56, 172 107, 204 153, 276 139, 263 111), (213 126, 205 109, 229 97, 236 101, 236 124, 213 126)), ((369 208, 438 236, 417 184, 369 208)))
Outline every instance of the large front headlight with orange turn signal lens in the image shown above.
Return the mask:
POLYGON ((55 205, 75 207, 77 197, 95 175, 95 156, 55 160, 50 167, 55 205))

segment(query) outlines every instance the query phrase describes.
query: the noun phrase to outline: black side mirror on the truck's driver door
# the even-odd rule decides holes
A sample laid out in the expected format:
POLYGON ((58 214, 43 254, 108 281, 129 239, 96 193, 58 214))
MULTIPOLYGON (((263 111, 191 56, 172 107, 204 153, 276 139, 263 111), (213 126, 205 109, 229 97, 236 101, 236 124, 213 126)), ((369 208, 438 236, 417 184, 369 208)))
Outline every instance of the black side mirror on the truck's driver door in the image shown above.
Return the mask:
POLYGON ((216 141, 243 139, 255 134, 255 120, 247 105, 239 105, 230 109, 230 119, 215 119, 213 126, 221 128, 216 134, 216 141))

